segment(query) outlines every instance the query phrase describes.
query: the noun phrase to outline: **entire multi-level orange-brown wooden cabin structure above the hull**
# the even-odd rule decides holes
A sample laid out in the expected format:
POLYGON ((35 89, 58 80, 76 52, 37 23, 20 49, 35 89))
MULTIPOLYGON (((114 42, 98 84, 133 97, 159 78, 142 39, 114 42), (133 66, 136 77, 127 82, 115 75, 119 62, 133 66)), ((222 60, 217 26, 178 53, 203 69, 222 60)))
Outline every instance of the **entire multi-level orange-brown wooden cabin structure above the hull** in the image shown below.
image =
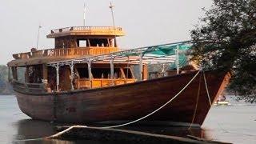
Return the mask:
POLYGON ((8 62, 14 90, 44 93, 46 90, 81 90, 135 82, 126 62, 115 63, 112 69, 111 64, 106 62, 92 62, 90 66, 86 63, 57 67, 47 65, 50 62, 117 52, 116 37, 123 35, 122 28, 110 26, 73 26, 51 30, 47 38, 54 38, 54 49, 32 48, 30 52, 13 54, 14 60, 8 62), (22 74, 18 74, 19 71, 22 74), (24 82, 19 81, 18 75, 24 76, 24 82))

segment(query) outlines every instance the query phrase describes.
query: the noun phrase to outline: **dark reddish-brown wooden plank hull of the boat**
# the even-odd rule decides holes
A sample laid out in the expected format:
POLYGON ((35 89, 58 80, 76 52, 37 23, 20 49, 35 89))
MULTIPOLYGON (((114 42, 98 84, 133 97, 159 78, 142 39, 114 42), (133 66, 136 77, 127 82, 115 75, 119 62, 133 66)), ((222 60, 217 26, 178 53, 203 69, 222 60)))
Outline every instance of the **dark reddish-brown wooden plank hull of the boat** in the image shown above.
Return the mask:
MULTIPOLYGON (((34 119, 57 122, 132 121, 158 109, 173 98, 198 71, 177 76, 54 94, 26 94, 16 91, 18 106, 34 119)), ((222 92, 229 80, 226 72, 208 71, 210 100, 222 92)), ((193 122, 202 125, 210 103, 202 73, 148 122, 193 122), (194 119, 194 120, 193 120, 194 119)))

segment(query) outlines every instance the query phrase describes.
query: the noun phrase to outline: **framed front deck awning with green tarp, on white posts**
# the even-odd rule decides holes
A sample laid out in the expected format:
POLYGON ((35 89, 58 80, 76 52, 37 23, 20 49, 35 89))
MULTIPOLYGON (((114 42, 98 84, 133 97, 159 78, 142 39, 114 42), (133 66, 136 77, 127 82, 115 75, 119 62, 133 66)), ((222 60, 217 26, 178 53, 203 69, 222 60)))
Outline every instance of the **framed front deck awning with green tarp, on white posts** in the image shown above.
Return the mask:
MULTIPOLYGON (((49 66, 69 65, 70 63, 85 63, 85 62, 130 62, 139 64, 140 59, 146 64, 174 64, 177 59, 179 66, 187 64, 186 51, 191 47, 191 42, 174 42, 158 46, 146 46, 131 50, 122 50, 110 54, 97 55, 92 57, 74 58, 65 61, 49 62, 49 66), (178 54, 176 50, 178 49, 178 54)), ((175 65, 174 65, 175 66, 175 65)), ((173 66, 173 67, 174 67, 173 66)))

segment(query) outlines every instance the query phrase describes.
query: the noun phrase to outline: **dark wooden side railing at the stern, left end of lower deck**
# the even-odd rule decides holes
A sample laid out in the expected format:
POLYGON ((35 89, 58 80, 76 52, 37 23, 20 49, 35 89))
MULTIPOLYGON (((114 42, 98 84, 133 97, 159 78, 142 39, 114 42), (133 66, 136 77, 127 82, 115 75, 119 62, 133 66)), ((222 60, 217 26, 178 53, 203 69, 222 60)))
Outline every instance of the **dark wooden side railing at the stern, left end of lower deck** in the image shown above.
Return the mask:
POLYGON ((36 94, 46 93, 46 85, 43 83, 26 83, 13 80, 12 84, 14 90, 18 92, 36 94))

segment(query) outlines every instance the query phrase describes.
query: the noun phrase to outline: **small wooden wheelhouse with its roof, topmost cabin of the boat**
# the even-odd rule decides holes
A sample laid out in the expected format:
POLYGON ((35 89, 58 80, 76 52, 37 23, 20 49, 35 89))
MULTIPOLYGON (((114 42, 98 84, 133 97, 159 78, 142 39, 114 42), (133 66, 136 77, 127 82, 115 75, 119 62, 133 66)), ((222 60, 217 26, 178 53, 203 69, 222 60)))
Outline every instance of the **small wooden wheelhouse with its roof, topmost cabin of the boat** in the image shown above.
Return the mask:
POLYGON ((116 48, 116 37, 123 36, 122 28, 110 26, 73 26, 51 30, 47 38, 55 39, 58 48, 116 48))

